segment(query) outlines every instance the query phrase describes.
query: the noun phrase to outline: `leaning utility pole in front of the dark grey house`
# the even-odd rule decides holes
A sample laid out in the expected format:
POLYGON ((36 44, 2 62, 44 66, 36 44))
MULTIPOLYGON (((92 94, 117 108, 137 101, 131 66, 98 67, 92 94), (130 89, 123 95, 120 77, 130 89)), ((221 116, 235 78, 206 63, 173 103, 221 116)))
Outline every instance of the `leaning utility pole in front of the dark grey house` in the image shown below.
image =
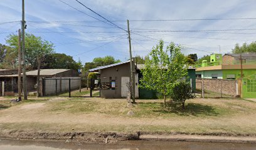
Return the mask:
POLYGON ((132 61, 132 45, 131 45, 131 32, 130 32, 130 25, 129 20, 127 20, 127 27, 128 27, 128 37, 129 37, 129 51, 130 51, 130 66, 131 66, 131 95, 132 95, 132 102, 135 103, 135 76, 134 76, 134 63, 132 61))

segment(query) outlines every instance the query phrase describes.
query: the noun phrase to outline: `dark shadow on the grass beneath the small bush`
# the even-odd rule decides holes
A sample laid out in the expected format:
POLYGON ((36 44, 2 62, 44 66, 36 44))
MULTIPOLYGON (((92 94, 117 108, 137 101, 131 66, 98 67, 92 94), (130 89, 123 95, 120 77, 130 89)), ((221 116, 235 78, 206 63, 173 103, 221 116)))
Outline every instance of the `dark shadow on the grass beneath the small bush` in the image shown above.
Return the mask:
POLYGON ((182 109, 179 105, 174 104, 161 104, 161 108, 158 110, 154 110, 157 113, 174 113, 178 114, 179 116, 218 116, 220 113, 216 111, 216 108, 212 106, 202 105, 202 104, 186 104, 186 109, 182 109))

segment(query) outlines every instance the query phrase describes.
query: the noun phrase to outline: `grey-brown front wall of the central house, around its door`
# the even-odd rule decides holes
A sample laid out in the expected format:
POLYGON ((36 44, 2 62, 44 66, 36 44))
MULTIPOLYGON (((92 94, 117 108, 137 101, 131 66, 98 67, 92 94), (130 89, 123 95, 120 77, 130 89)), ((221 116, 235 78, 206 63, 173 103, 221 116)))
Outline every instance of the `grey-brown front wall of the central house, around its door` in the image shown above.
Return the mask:
MULTIPOLYGON (((110 83, 115 80, 115 89, 101 89, 100 97, 103 98, 122 98, 121 79, 130 77, 130 63, 120 64, 118 66, 100 70, 100 83, 110 83)), ((136 97, 139 97, 138 80, 136 81, 136 97)))

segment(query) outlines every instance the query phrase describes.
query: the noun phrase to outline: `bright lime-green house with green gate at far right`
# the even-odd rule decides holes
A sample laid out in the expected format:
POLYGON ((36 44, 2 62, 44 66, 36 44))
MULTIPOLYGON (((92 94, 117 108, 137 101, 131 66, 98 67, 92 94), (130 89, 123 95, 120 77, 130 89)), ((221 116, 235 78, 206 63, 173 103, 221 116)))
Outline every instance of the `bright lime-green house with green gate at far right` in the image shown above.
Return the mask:
POLYGON ((210 58, 195 65, 196 78, 238 80, 242 98, 256 98, 256 53, 212 54, 210 58))

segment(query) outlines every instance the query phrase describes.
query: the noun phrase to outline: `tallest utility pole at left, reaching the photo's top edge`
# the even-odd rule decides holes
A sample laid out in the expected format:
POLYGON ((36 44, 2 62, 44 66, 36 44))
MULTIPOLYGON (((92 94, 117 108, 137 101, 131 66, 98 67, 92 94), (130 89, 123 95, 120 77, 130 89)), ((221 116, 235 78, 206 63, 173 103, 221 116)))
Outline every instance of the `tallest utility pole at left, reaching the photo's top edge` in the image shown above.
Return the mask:
POLYGON ((24 0, 22 0, 22 21, 21 21, 21 30, 22 30, 22 66, 23 66, 23 99, 28 99, 27 93, 27 79, 26 79, 26 58, 25 58, 25 7, 24 0))

